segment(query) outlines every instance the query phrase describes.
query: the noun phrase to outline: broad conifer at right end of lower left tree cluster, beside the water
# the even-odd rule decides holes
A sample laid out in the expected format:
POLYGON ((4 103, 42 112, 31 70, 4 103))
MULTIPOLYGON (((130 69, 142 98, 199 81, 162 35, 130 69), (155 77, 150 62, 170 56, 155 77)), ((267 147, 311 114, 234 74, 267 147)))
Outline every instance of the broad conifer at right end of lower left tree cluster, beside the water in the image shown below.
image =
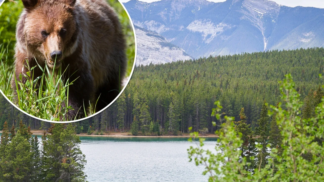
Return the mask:
POLYGON ((50 135, 47 135, 47 141, 43 143, 43 181, 85 182, 86 175, 82 170, 87 161, 80 150, 80 138, 75 135, 71 123, 64 128, 64 124, 52 124, 50 135))

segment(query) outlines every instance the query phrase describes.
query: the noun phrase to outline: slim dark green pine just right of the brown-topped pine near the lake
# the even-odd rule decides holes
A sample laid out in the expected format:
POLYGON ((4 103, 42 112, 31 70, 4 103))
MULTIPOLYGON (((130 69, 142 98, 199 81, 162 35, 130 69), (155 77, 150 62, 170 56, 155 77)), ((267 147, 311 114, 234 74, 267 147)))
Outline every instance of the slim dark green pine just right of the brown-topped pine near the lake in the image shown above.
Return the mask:
POLYGON ((262 145, 262 149, 258 154, 258 166, 263 168, 268 163, 267 157, 269 155, 269 152, 267 151, 269 137, 269 116, 265 100, 262 105, 260 119, 258 119, 257 123, 259 126, 256 128, 256 134, 260 137, 257 138, 256 141, 262 145))

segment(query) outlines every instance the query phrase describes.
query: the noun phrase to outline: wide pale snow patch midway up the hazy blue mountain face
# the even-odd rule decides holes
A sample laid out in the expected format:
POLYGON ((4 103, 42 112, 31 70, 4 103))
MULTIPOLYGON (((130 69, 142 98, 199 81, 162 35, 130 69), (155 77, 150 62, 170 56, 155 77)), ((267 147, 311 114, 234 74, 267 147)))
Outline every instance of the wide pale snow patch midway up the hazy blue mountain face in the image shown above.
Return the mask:
POLYGON ((214 38, 224 32, 226 29, 231 28, 230 25, 226 25, 225 23, 219 23, 215 25, 211 20, 195 20, 191 22, 187 29, 193 32, 202 33, 203 40, 208 44, 214 38), (210 35, 210 37, 208 37, 210 35))

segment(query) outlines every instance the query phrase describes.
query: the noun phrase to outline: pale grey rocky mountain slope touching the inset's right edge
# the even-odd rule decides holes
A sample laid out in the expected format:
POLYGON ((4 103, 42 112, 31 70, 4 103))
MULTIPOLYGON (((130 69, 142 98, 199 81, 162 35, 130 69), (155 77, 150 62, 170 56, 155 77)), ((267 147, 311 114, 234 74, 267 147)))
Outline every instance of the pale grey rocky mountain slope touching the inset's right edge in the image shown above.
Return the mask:
POLYGON ((183 49, 171 44, 166 38, 156 32, 137 26, 135 26, 135 32, 137 39, 137 65, 192 59, 183 49))

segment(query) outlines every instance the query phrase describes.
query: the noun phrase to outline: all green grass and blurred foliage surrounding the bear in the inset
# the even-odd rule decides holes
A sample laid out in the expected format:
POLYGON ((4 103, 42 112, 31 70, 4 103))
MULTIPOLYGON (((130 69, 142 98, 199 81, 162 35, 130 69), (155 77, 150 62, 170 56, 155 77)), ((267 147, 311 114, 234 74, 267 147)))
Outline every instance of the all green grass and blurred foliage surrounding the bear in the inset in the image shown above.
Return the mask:
MULTIPOLYGON (((117 0, 107 1, 116 10, 124 29, 125 39, 127 41, 126 55, 128 59, 126 77, 128 77, 132 71, 135 57, 133 28, 121 4, 117 0)), ((68 103, 69 96, 66 93, 68 93, 69 86, 75 81, 69 80, 68 78, 64 80, 62 74, 66 70, 59 68, 57 72, 52 72, 46 65, 44 67, 37 65, 36 67, 39 67, 43 74, 35 78, 31 73, 36 67, 29 67, 27 65, 26 69, 29 72, 26 75, 19 75, 18 78, 15 77, 13 55, 15 52, 14 45, 16 43, 16 22, 23 8, 20 0, 16 2, 5 1, 0 7, 0 42, 4 42, 0 44, 0 89, 15 105, 33 116, 51 121, 66 121, 67 119, 64 116, 73 108, 65 107, 63 103, 68 103), (24 84, 19 82, 23 77, 27 78, 27 82, 24 84), (15 80, 15 88, 11 88, 11 79, 15 80), (17 93, 16 90, 18 90, 17 93)), ((85 116, 81 117, 95 114, 96 103, 88 102, 90 108, 84 108, 85 116)), ((81 108, 74 109, 78 109, 79 111, 81 108)))

